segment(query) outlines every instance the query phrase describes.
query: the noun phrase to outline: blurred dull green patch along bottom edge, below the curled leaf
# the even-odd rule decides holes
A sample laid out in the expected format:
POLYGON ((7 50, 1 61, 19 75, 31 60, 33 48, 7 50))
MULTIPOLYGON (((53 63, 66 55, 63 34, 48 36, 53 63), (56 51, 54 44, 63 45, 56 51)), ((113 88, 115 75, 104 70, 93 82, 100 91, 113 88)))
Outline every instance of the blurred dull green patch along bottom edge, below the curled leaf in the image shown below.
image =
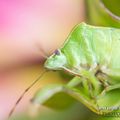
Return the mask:
POLYGON ((18 116, 18 118, 15 117, 15 120, 89 120, 91 116, 90 113, 91 111, 85 106, 76 103, 64 111, 44 110, 43 108, 43 111, 40 110, 39 115, 36 117, 30 117, 29 115, 23 114, 18 116))

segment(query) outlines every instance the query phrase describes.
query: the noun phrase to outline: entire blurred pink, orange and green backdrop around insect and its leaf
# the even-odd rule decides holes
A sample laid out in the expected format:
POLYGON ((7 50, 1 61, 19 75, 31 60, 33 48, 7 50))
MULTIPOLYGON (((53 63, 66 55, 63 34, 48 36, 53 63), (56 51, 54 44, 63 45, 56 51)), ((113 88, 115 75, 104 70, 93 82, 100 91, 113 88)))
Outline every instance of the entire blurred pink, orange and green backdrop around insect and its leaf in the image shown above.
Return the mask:
MULTIPOLYGON (((44 56, 60 47, 76 24, 85 21, 120 27, 119 7, 114 11, 120 2, 115 2, 110 4, 112 7, 105 4, 112 8, 109 11, 115 15, 113 18, 99 5, 99 0, 0 0, 0 120, 6 119, 19 95, 44 70, 44 56)), ((108 119, 96 117, 80 103, 61 112, 30 104, 39 88, 64 82, 59 72, 46 73, 23 98, 12 119, 108 119)))

